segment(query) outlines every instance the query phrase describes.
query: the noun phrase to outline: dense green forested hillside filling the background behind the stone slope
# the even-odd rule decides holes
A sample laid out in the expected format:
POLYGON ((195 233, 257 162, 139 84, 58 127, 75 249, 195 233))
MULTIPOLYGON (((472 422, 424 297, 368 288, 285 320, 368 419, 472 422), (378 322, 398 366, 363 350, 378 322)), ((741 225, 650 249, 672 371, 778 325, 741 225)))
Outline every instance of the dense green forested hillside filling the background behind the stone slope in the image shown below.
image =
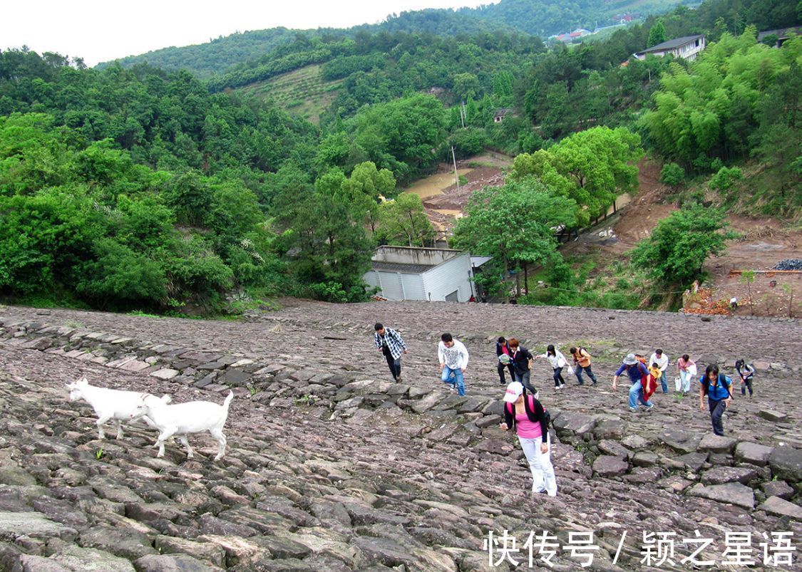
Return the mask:
MULTIPOLYGON (((508 183, 468 207, 454 244, 494 256, 495 276, 538 264, 565 292, 582 275, 554 228, 588 224, 633 193, 644 150, 668 162, 664 179, 687 208, 656 233, 667 244, 638 252, 667 252, 670 228, 719 236, 711 229, 726 224, 711 207, 798 220, 802 40, 760 45, 749 14, 761 27, 799 21, 788 2, 709 0, 575 48, 504 32, 301 34, 209 82, 6 50, 0 295, 177 313, 237 312, 279 293, 363 300, 376 244, 431 244, 420 199, 392 199, 452 147, 458 158, 517 155, 508 183), (695 62, 630 58, 658 28, 702 31, 709 46, 695 62), (342 82, 319 125, 229 89, 310 62, 342 82), (534 211, 523 235, 499 227, 534 211)), ((671 254, 657 274, 646 255, 619 261, 621 272, 681 288, 716 240, 684 261, 671 254)), ((616 284, 622 297, 530 301, 639 303, 627 280, 616 284)))

